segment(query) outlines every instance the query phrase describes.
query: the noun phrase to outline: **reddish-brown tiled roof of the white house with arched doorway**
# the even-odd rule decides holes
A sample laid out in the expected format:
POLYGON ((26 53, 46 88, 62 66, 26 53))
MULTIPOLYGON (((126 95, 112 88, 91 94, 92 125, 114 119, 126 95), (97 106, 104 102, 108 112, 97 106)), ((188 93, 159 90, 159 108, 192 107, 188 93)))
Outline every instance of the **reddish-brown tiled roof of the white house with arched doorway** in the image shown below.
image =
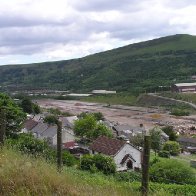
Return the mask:
POLYGON ((90 149, 105 155, 115 155, 124 145, 125 141, 111 139, 105 136, 98 137, 90 146, 90 149))

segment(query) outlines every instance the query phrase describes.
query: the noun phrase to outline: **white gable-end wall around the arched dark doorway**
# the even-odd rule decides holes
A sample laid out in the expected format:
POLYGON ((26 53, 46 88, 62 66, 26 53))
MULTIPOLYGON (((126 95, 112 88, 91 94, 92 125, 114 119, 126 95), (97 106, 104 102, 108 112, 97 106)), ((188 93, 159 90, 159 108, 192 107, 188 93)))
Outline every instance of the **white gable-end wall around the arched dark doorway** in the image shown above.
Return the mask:
POLYGON ((121 161, 126 154, 130 154, 136 162, 133 162, 133 168, 141 168, 141 152, 129 144, 125 144, 123 148, 114 157, 117 170, 126 170, 126 162, 122 165, 121 161))

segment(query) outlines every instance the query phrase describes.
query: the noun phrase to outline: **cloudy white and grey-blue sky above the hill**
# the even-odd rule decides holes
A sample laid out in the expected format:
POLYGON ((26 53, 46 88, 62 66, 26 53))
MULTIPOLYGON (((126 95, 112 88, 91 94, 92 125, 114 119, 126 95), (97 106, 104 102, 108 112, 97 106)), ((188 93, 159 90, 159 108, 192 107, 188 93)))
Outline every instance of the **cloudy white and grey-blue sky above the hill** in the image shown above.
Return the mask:
POLYGON ((0 65, 54 61, 196 35, 195 0, 0 0, 0 65))

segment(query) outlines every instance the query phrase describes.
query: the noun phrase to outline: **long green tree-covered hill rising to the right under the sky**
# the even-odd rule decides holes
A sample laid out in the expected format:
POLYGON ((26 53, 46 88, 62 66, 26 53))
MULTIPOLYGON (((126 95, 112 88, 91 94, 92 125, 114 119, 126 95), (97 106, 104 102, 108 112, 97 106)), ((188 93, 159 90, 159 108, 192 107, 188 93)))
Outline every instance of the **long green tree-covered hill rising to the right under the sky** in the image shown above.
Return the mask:
POLYGON ((196 75, 196 36, 179 34, 80 59, 0 66, 0 86, 153 92, 196 75))

